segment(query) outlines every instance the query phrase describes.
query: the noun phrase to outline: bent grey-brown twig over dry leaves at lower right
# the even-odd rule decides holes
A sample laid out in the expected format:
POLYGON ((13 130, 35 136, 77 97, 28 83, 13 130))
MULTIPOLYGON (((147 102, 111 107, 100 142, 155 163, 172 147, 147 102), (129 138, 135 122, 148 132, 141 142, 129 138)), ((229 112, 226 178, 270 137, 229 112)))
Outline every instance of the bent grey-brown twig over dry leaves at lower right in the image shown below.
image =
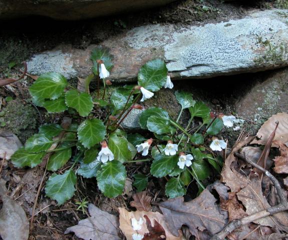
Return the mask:
POLYGON ((254 214, 249 215, 249 216, 245 216, 245 217, 243 217, 241 219, 235 219, 235 220, 231 221, 220 232, 215 234, 211 238, 211 240, 224 239, 229 233, 231 233, 232 231, 234 231, 235 229, 237 229, 241 225, 245 225, 247 223, 250 223, 252 221, 258 220, 260 218, 263 218, 263 217, 266 217, 266 216, 269 216, 269 215, 273 215, 273 214, 281 212, 281 211, 288 210, 288 202, 286 200, 284 191, 281 188, 278 180, 269 171, 265 170, 263 167, 261 167, 258 164, 252 162, 251 160, 245 158, 245 156, 243 154, 240 154, 238 152, 234 152, 234 155, 239 157, 239 158, 241 158, 242 160, 246 161, 247 163, 251 164, 255 168, 259 169, 260 171, 264 172, 265 175, 270 178, 270 180, 273 182, 273 184, 274 184, 274 186, 275 186, 275 188, 277 190, 277 194, 279 196, 280 203, 278 205, 275 205, 275 206, 269 207, 267 209, 258 211, 258 212, 254 213, 254 214))

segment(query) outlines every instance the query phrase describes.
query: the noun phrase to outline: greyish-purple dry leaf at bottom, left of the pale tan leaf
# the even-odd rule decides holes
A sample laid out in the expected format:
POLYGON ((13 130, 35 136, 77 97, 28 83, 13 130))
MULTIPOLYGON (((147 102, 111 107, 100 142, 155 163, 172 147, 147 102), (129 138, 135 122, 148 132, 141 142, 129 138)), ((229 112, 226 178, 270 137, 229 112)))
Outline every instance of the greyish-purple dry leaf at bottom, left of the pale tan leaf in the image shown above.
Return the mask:
POLYGON ((84 240, 120 240, 119 222, 115 215, 102 211, 92 203, 88 205, 90 217, 80 220, 77 225, 68 227, 65 234, 74 232, 84 240))

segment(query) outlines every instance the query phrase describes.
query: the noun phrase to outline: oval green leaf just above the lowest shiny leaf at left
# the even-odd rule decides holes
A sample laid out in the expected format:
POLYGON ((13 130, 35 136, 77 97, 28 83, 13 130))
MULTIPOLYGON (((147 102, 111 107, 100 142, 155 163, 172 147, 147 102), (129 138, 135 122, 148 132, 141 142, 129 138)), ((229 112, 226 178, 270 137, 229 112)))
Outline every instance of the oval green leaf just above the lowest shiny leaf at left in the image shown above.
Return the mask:
MULTIPOLYGON (((60 147, 62 146, 60 145, 60 147)), ((50 171, 57 171, 58 169, 60 169, 62 166, 65 165, 65 163, 71 158, 71 155, 72 155, 71 147, 54 152, 49 157, 47 169, 50 171)))

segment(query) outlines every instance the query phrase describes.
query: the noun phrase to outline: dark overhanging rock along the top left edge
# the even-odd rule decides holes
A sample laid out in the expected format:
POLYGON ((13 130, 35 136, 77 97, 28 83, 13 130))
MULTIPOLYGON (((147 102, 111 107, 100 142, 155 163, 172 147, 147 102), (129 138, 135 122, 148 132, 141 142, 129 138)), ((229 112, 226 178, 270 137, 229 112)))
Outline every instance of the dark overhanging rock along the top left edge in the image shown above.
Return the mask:
POLYGON ((78 20, 160 6, 172 1, 174 0, 0 0, 0 18, 41 15, 60 20, 78 20))

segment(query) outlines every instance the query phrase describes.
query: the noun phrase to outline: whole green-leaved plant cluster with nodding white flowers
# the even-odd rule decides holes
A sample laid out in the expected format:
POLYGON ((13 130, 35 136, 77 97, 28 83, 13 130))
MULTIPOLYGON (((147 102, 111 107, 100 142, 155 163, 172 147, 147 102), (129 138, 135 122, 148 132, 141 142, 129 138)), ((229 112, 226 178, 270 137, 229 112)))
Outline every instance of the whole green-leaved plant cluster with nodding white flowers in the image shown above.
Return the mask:
MULTIPOLYGON (((56 72, 39 76, 31 85, 29 91, 34 104, 48 112, 65 111, 65 116, 61 124, 40 126, 39 132, 12 156, 14 166, 35 167, 47 160, 46 167, 53 174, 46 182, 45 191, 58 205, 74 195, 76 174, 96 177, 98 188, 105 196, 121 194, 127 177, 125 165, 131 162, 151 161, 152 176, 167 176, 165 192, 170 198, 184 195, 193 178, 199 191, 203 190, 203 180, 210 175, 210 166, 217 171, 221 169, 221 160, 211 154, 204 141, 222 129, 223 119, 211 114, 209 107, 195 101, 190 93, 176 91, 181 105, 177 119, 172 119, 160 107, 150 107, 141 113, 139 123, 143 131, 151 132, 151 137, 128 134, 121 129, 121 122, 133 108, 143 108, 139 100, 152 97, 153 92, 162 87, 173 87, 166 64, 161 59, 148 61, 139 70, 137 86, 118 87, 108 99, 106 88, 111 82, 107 77, 113 68, 113 57, 106 48, 98 47, 92 51, 91 59, 93 74, 85 79, 83 92, 70 86, 67 79, 56 72), (89 84, 95 78, 97 99, 89 94, 89 84), (104 84, 102 96, 99 96, 100 80, 104 84), (184 109, 190 112, 185 126, 179 123, 184 109), (202 123, 191 130, 195 118, 202 123), (73 163, 69 165, 67 162, 71 158, 73 163), (59 172, 64 165, 65 170, 59 172)), ((222 150, 226 143, 214 139, 210 147, 222 150)), ((133 175, 133 185, 138 191, 146 187, 150 174, 133 175)))

